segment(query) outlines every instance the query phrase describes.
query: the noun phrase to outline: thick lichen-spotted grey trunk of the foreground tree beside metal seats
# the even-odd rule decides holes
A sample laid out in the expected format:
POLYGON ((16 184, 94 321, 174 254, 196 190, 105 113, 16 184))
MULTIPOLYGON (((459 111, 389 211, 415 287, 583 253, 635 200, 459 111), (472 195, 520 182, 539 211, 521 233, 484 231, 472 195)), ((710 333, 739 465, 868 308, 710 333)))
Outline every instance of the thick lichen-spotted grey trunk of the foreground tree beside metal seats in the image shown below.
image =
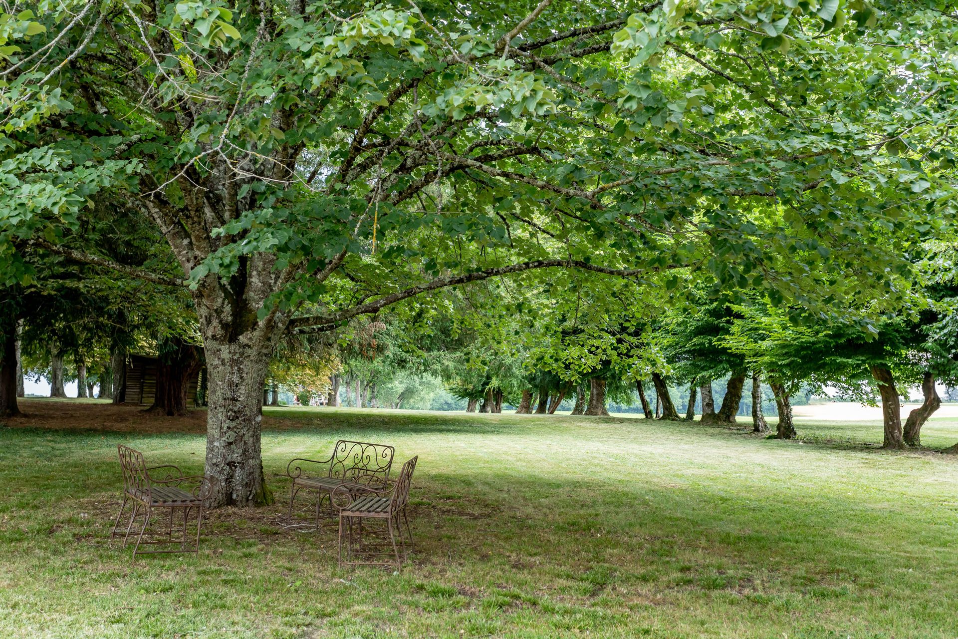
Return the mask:
POLYGON ((262 382, 268 352, 242 342, 205 340, 210 390, 206 474, 217 482, 213 506, 272 502, 262 474, 262 382))

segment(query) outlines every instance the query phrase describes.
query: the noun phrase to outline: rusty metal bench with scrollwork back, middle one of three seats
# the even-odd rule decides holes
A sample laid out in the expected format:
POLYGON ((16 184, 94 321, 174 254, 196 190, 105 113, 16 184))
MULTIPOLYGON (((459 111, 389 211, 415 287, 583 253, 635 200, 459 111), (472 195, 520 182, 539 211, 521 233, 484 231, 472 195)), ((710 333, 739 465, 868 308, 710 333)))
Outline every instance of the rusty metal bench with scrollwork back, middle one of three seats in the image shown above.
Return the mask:
MULTIPOLYGON (((370 444, 339 440, 328 459, 312 460, 297 458, 286 465, 286 475, 293 480, 289 492, 287 523, 292 524, 293 502, 300 491, 316 491, 316 529, 319 529, 320 511, 331 492, 343 484, 356 493, 385 489, 389 483, 389 470, 393 466, 395 449, 390 445, 370 444), (304 474, 303 468, 313 472, 304 474)), ((335 513, 330 500, 330 516, 335 513)))

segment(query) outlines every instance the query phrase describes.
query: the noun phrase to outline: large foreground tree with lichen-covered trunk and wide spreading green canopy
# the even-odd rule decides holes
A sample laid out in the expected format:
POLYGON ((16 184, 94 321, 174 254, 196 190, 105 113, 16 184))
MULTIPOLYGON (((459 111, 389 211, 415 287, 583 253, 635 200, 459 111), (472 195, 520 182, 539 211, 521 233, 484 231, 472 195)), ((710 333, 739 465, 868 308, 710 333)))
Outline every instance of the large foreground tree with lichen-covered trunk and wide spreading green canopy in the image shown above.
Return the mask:
POLYGON ((406 300, 400 320, 439 313, 449 287, 541 290, 519 312, 581 331, 541 335, 536 368, 588 378, 593 412, 622 349, 657 387, 686 364, 636 308, 751 291, 880 330, 912 305, 916 248, 953 238, 958 21, 941 4, 4 12, 0 366, 21 320, 57 318, 31 297, 63 278, 116 290, 61 326, 185 310, 210 374, 212 502, 249 505, 270 499, 260 406, 285 342, 406 300))

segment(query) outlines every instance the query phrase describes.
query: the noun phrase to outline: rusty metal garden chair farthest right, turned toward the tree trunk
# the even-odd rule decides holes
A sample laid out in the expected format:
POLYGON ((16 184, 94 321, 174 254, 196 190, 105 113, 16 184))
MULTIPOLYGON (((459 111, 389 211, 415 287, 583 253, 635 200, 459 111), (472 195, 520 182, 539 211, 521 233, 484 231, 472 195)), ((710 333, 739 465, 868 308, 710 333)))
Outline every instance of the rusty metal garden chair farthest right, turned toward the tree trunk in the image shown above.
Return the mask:
POLYGON ((359 492, 348 484, 343 484, 333 490, 331 500, 339 506, 340 567, 343 565, 395 565, 397 569, 402 567, 402 563, 408 558, 409 551, 413 547, 413 534, 409 528, 406 506, 409 503, 409 487, 418 461, 419 456, 403 464, 396 483, 389 489, 359 492), (363 531, 364 519, 385 521, 386 530, 382 532, 389 536, 388 543, 385 541, 369 543, 368 537, 373 531, 369 529, 366 532, 363 531), (364 539, 364 536, 367 539, 364 539), (399 537, 399 545, 397 545, 397 537, 399 537), (344 542, 345 558, 343 557, 344 542), (392 552, 390 552, 390 546, 392 552))

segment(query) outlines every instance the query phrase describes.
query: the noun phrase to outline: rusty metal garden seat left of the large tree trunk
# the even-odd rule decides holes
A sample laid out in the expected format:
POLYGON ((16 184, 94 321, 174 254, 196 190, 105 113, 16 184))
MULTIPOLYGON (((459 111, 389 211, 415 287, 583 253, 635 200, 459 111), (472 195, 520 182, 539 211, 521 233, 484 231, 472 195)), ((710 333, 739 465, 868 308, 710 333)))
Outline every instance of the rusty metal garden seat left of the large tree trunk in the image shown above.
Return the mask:
MULTIPOLYGON (((118 445, 120 453, 120 468, 123 471, 123 504, 113 522, 113 532, 110 537, 117 536, 117 528, 127 503, 132 503, 133 513, 123 534, 124 548, 131 543, 130 533, 137 515, 143 513, 143 526, 136 536, 136 545, 133 547, 133 560, 137 555, 158 553, 198 553, 199 531, 203 524, 203 500, 213 492, 213 484, 207 477, 184 476, 183 471, 175 466, 147 467, 143 453, 129 446, 118 445), (163 479, 159 477, 162 476, 163 479), (167 530, 148 531, 150 517, 154 509, 170 511, 170 521, 167 530), (196 511, 196 537, 187 538, 187 521, 192 510, 196 511), (173 538, 173 519, 177 513, 183 514, 182 530, 179 538, 173 538), (145 540, 144 537, 147 537, 145 540), (179 548, 163 550, 140 550, 140 544, 179 544, 179 548)), ((177 524, 177 528, 179 525, 177 524)))

